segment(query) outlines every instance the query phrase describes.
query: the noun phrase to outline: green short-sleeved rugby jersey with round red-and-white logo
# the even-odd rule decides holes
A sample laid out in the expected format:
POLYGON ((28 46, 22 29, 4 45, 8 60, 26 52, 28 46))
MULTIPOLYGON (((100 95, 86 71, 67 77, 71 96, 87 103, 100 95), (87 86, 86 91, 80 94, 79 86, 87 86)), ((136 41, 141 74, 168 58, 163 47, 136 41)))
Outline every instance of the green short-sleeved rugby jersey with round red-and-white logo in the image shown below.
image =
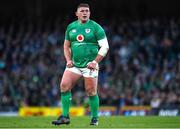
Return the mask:
POLYGON ((74 66, 86 67, 93 61, 99 50, 98 40, 106 38, 103 28, 93 20, 80 23, 78 20, 68 25, 65 39, 71 42, 74 66))

